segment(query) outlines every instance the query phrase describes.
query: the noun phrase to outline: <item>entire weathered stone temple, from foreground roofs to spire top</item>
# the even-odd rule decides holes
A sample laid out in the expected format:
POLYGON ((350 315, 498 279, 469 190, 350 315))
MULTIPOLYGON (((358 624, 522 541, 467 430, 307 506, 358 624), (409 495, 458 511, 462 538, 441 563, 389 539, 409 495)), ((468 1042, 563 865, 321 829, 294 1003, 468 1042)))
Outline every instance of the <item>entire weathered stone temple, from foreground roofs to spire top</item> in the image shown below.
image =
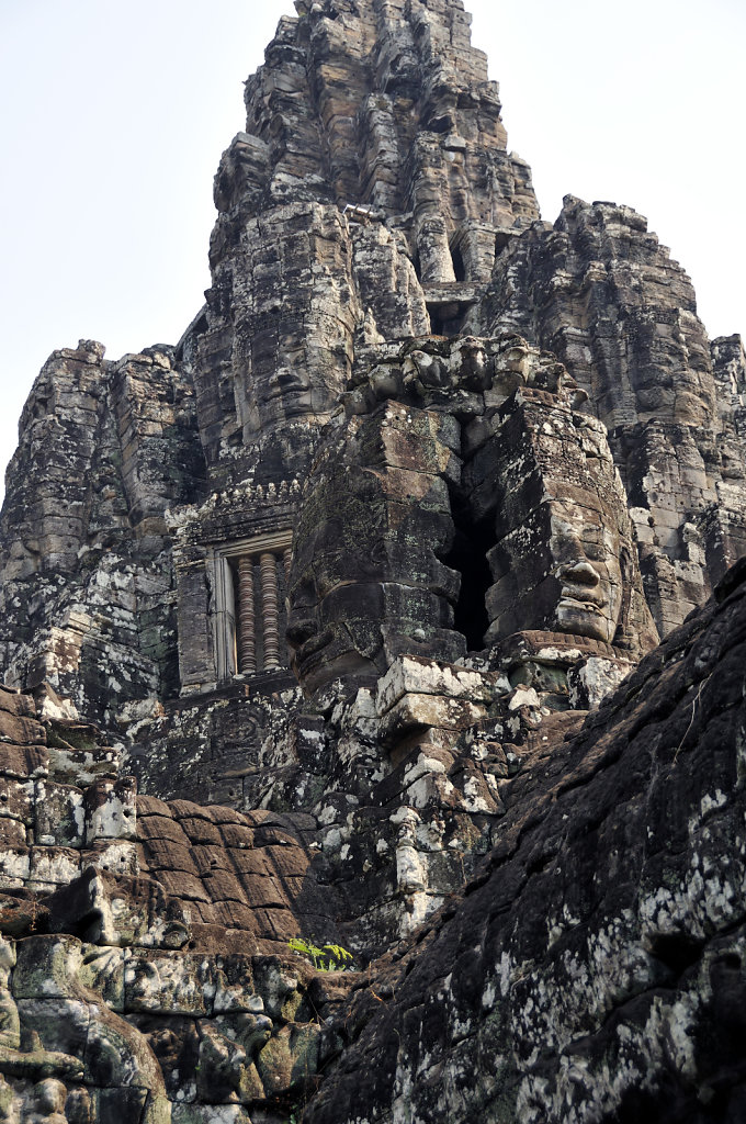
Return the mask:
POLYGON ((204 307, 21 418, 0 1120, 736 1124, 743 345, 461 0, 295 7, 204 307))

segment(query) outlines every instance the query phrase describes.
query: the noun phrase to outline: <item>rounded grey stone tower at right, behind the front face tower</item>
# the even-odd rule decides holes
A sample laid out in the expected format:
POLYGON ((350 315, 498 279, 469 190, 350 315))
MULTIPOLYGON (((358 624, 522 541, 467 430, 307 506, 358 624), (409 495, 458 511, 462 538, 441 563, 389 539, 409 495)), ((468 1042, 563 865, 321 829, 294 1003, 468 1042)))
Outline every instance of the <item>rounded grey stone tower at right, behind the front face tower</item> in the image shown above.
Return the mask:
POLYGON ((746 549, 739 337, 716 341, 711 357, 691 282, 643 216, 572 196, 554 226, 506 245, 466 324, 513 327, 586 391, 627 489, 648 602, 670 632, 746 549))

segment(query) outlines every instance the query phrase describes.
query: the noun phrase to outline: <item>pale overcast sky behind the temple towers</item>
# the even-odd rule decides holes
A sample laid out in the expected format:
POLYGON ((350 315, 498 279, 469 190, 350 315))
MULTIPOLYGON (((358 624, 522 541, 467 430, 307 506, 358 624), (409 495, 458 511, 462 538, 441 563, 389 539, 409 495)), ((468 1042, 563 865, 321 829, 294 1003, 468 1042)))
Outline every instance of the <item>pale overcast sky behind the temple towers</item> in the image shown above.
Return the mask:
MULTIPOLYGON (((710 335, 746 332, 744 0, 467 0, 543 217, 646 215, 710 335)), ((212 176, 284 0, 0 0, 0 462, 55 347, 175 343, 212 176)))

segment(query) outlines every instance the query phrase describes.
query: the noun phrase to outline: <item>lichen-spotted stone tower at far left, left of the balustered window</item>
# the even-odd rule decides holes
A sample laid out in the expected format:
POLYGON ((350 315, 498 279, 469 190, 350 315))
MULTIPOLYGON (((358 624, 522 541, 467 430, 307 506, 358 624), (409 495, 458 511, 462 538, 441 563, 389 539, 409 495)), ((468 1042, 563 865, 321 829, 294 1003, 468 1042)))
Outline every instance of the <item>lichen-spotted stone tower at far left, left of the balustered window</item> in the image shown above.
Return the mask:
POLYGON ((192 391, 172 348, 109 363, 81 341, 46 363, 19 432, 1 517, 6 682, 47 681, 111 724, 128 699, 178 689, 164 515, 204 471, 192 391))

